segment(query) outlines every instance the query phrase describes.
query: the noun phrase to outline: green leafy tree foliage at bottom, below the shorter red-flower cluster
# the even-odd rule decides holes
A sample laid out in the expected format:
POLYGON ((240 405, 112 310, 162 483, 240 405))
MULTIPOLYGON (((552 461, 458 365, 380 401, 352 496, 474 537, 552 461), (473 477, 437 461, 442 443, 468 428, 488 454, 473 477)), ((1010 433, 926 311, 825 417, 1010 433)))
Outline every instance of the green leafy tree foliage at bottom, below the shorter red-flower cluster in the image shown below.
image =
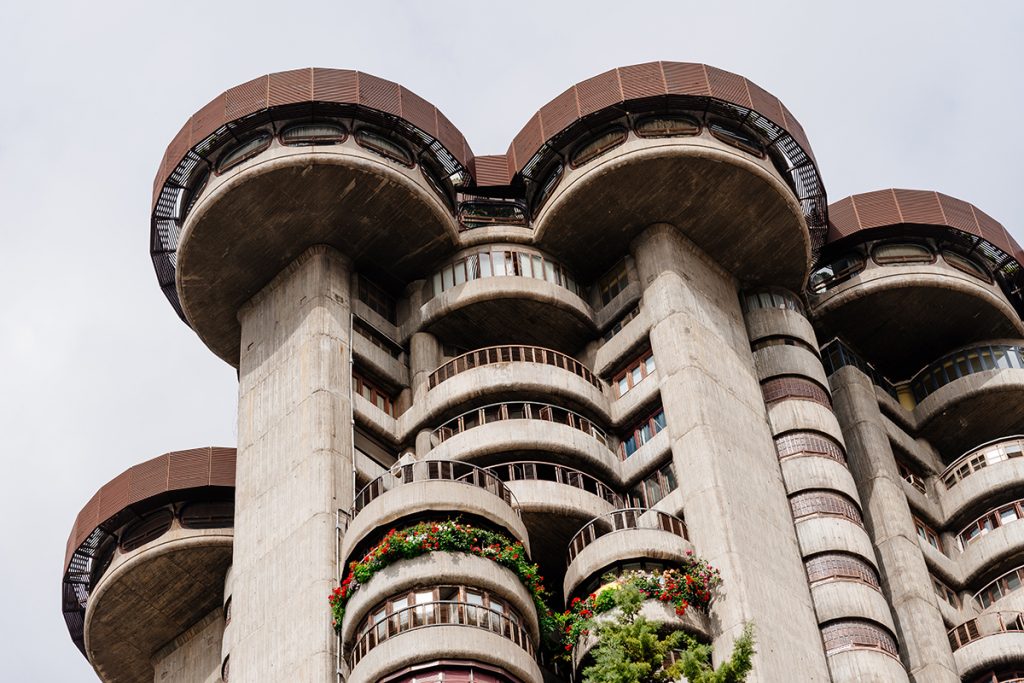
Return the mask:
POLYGON ((584 683, 669 683, 683 677, 688 683, 741 683, 751 672, 754 657, 754 627, 746 624, 736 639, 732 655, 716 670, 711 665, 711 646, 682 631, 666 636, 640 614, 643 597, 634 586, 614 590, 620 609, 616 618, 594 626, 597 645, 591 650, 594 664, 584 670, 584 683), (664 667, 671 650, 681 650, 676 661, 664 667))

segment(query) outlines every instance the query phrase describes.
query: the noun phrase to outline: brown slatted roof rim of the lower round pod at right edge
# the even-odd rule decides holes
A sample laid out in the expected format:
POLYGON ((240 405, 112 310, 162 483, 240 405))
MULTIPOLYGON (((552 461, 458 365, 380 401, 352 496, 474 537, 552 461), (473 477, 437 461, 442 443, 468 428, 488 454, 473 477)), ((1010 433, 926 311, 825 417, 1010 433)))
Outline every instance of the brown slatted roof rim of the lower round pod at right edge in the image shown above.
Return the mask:
POLYGON ((864 230, 901 224, 932 225, 981 238, 1018 263, 1024 250, 997 220, 964 200, 925 189, 878 189, 828 205, 826 244, 864 230))

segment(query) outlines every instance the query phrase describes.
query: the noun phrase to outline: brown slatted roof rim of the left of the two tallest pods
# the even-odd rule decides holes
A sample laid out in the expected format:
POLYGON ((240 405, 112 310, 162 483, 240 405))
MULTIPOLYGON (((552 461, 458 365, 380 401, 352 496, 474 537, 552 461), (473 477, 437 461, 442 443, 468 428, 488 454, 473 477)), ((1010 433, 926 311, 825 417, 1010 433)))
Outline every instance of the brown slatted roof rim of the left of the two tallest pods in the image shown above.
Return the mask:
POLYGON ((304 102, 355 104, 408 121, 439 141, 464 167, 473 153, 440 110, 392 81, 348 69, 307 67, 266 74, 220 93, 196 112, 167 145, 154 179, 153 207, 189 150, 222 126, 267 110, 304 102))

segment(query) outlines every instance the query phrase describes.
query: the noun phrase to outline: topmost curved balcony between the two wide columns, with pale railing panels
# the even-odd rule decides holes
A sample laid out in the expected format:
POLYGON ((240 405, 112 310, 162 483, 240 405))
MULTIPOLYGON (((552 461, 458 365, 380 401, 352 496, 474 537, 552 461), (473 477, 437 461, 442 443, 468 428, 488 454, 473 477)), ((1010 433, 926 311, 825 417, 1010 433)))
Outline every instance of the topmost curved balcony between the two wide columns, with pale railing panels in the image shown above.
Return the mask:
POLYGON ((460 344, 514 342, 574 350, 597 333, 577 279, 528 247, 474 248, 436 271, 427 287, 431 298, 420 309, 422 326, 460 344))

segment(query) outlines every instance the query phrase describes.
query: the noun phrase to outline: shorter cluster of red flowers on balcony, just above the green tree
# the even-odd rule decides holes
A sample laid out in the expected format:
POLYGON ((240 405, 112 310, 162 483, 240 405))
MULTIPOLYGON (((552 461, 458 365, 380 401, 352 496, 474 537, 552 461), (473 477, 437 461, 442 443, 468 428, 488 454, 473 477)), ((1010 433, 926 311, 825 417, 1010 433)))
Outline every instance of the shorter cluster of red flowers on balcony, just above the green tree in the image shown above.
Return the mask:
POLYGON ((642 600, 657 600, 673 605, 682 616, 690 607, 707 611, 712 592, 722 583, 718 569, 706 559, 686 551, 686 560, 678 569, 664 571, 626 571, 618 577, 606 577, 607 583, 586 598, 572 598, 569 608, 557 618, 561 623, 563 648, 566 652, 589 633, 591 620, 617 606, 615 591, 635 588, 642 600))

